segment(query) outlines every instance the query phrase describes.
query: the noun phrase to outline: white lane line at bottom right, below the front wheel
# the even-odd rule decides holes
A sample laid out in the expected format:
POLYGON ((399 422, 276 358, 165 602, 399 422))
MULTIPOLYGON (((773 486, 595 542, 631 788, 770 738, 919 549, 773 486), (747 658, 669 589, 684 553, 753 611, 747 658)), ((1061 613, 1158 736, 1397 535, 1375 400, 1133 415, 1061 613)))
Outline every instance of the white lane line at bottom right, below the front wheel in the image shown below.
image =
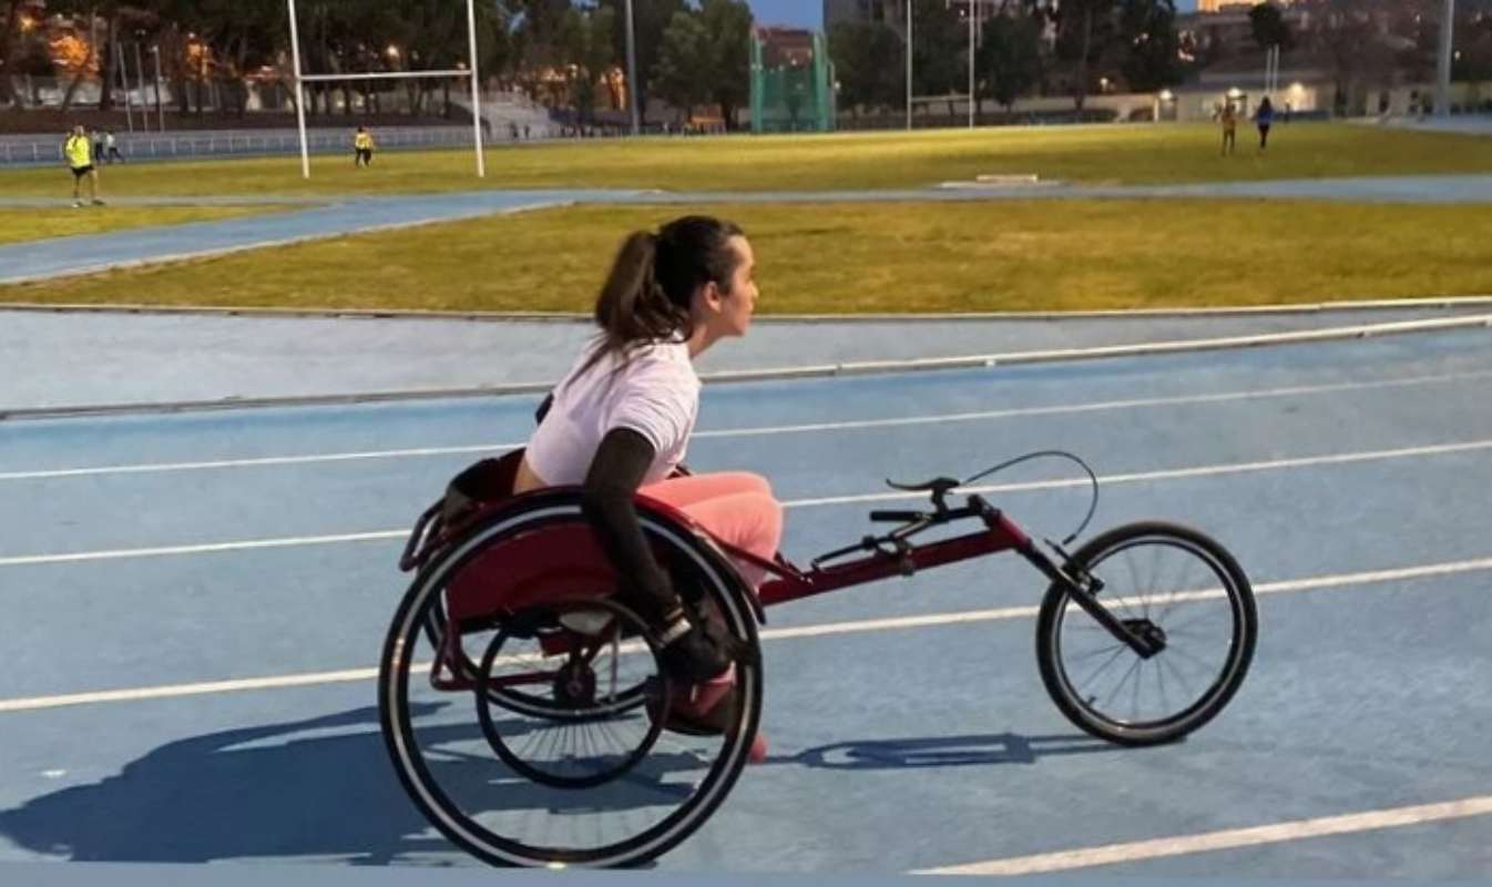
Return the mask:
POLYGON ((1464 820, 1488 814, 1492 814, 1492 794, 1464 797, 1461 800, 1447 800, 1443 803, 1423 803, 1417 806, 1398 806, 1337 817, 1295 820, 1289 823, 1274 823, 1270 826, 1255 826, 1252 829, 1226 829, 1222 832, 1204 832, 1201 835, 1155 838, 1150 841, 1132 841, 1128 844, 1109 844, 1104 847, 1038 853, 1035 856, 1016 856, 961 866, 921 869, 913 874, 1037 875, 1043 872, 1065 872, 1070 869, 1162 859, 1168 856, 1185 856, 1191 853, 1237 850, 1240 847, 1258 847, 1261 844, 1283 844, 1286 841, 1304 841, 1307 838, 1325 838, 1329 835, 1355 835, 1359 832, 1420 826, 1425 823, 1441 823, 1447 820, 1464 820))

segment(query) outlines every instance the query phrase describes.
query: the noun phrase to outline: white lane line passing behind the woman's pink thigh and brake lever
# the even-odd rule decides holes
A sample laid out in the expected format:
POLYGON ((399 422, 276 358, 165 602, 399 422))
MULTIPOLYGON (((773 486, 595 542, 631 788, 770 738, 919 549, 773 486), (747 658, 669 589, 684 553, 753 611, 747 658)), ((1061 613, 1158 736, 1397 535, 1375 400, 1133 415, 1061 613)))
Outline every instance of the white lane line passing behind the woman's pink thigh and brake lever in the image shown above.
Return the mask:
MULTIPOLYGON (((1362 461, 1385 461, 1395 458, 1420 458, 1429 455, 1452 455, 1456 452, 1479 452, 1492 449, 1492 439, 1467 441, 1462 444, 1438 444, 1432 446, 1404 446, 1399 449, 1370 449, 1365 452, 1334 452, 1328 455, 1307 455, 1300 458, 1276 458, 1270 461, 1244 461, 1229 464, 1195 466, 1183 469, 1165 469, 1156 472, 1137 472, 1125 475, 1100 476, 1103 484, 1146 484, 1156 481, 1177 481, 1188 478, 1213 478, 1223 475, 1238 475, 1252 472, 1289 470, 1301 467, 1317 467, 1331 464, 1352 464, 1362 461)), ((962 493, 1029 493, 1034 490, 1061 490, 1067 487, 1085 487, 1088 479, 1059 481, 1028 481, 1021 484, 989 484, 977 487, 962 487, 962 493)), ((925 493, 865 493, 859 496, 828 496, 822 499, 789 499, 782 503, 786 509, 821 508, 827 505, 853 505, 870 502, 894 502, 909 499, 927 499, 925 493)), ((87 560, 119 560, 131 557, 166 557, 184 554, 210 554, 218 551, 245 551, 257 548, 292 548, 301 545, 336 545, 342 542, 372 542, 385 539, 404 539, 409 530, 374 530, 369 533, 343 533, 333 536, 289 536, 279 539, 249 539, 242 542, 212 542, 203 545, 169 545, 158 548, 119 548, 112 551, 78 551, 70 554, 21 554, 0 557, 0 567, 36 566, 51 563, 76 563, 87 560)))

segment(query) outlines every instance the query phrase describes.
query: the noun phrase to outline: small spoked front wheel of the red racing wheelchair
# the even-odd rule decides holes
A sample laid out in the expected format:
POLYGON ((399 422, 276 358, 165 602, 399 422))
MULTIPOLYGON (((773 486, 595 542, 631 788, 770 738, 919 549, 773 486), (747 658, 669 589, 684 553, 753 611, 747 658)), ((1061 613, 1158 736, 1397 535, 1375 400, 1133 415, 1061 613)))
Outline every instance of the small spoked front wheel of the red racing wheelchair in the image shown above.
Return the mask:
POLYGON ((1162 641, 1140 657, 1055 582, 1041 600, 1041 681, 1073 724, 1120 745, 1158 745, 1217 715, 1253 659, 1258 615, 1238 563, 1212 538, 1176 524, 1109 530, 1073 554, 1097 600, 1120 623, 1162 641))

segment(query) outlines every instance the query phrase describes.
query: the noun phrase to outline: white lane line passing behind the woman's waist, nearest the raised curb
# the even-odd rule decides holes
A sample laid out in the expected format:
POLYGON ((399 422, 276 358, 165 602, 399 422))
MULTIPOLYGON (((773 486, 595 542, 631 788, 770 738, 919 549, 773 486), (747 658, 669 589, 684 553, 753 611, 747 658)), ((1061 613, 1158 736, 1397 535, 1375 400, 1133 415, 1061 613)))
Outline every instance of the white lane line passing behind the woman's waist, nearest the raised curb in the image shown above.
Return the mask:
MULTIPOLYGON (((1094 403, 1070 403, 1053 406, 1024 406, 1010 409, 988 409, 977 412, 952 412, 941 415, 916 415, 882 420, 856 420, 841 423, 812 423, 797 426, 764 426, 749 429, 716 429, 695 432, 695 438, 753 438, 770 435, 804 435, 816 432, 853 432, 867 429, 892 429, 907 426, 930 426, 943 423, 989 421, 1001 418, 1022 418, 1038 415, 1076 415, 1085 412, 1106 412, 1122 409, 1147 409, 1158 406, 1183 406, 1198 403, 1228 403, 1235 400, 1271 399, 1271 397, 1304 397, 1316 394, 1340 394, 1344 391, 1368 391, 1374 388, 1404 388, 1417 385, 1434 385, 1441 382, 1462 382, 1492 378, 1492 370, 1470 373, 1443 373, 1428 376, 1410 376, 1404 379, 1376 379, 1371 382, 1338 382, 1331 385, 1297 385, 1288 388, 1259 388, 1244 391, 1220 391, 1213 394, 1182 394, 1174 397, 1137 397, 1128 400, 1100 400, 1094 403)), ((260 458, 222 458, 209 461, 175 461, 175 463, 145 463, 145 464, 112 464, 94 467, 46 469, 28 472, 0 472, 0 481, 37 481, 57 478, 81 478, 93 475, 133 475, 157 472, 186 472, 236 467, 264 467, 286 464, 316 464, 330 461, 358 461, 369 458, 421 458, 439 455, 460 455, 470 452, 503 452, 522 446, 522 442, 492 442, 466 444, 458 446, 419 446, 407 449, 372 449, 355 452, 324 452, 304 455, 270 455, 260 458)))

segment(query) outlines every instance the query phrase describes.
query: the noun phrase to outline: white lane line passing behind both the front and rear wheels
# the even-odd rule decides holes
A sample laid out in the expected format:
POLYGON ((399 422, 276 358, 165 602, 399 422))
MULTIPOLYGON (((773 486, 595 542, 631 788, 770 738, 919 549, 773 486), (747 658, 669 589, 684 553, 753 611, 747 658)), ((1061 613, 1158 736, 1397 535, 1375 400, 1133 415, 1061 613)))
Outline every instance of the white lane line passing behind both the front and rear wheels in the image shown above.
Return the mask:
MULTIPOLYGON (((1310 576, 1303 579, 1285 579, 1264 582, 1253 587, 1256 596, 1291 594, 1301 591, 1323 591, 1346 588, 1353 585, 1376 585, 1386 582, 1402 582, 1432 576, 1447 576, 1456 573, 1471 573, 1492 570, 1492 557, 1474 560, 1456 560, 1431 563, 1413 567, 1397 567, 1388 570, 1368 570, 1358 573, 1335 573, 1325 576, 1310 576)), ((1206 600, 1222 597, 1222 591, 1189 591, 1177 594, 1177 600, 1206 600)), ((1132 599, 1116 599, 1116 605, 1137 605, 1132 599)), ((937 626, 974 624, 1001 620, 1031 618, 1037 615, 1035 605, 1003 606, 995 609, 971 609, 961 612, 943 612, 916 617, 889 617, 877 620, 856 620, 847 623, 825 623, 818 626, 798 626, 792 629, 767 629, 761 633, 762 641, 789 641, 795 638, 825 638, 831 635, 855 635, 864 632, 888 632, 897 629, 927 629, 937 626)), ((428 670, 427 666, 413 666, 415 670, 428 670)), ((300 675, 278 675, 267 678, 242 678, 231 681, 209 681, 198 684, 172 684, 161 687, 137 687, 128 690, 104 690, 95 693, 69 693, 61 696, 33 696, 21 699, 0 699, 0 714, 16 711, 36 711, 46 708, 64 708, 75 705, 95 705, 103 702, 140 702, 146 699, 167 699, 175 696, 204 696, 213 693, 234 693, 245 690, 279 690, 286 687, 313 687, 322 684, 342 684, 349 681, 372 681, 377 678, 376 667, 343 669, 334 672, 307 672, 300 675)))

